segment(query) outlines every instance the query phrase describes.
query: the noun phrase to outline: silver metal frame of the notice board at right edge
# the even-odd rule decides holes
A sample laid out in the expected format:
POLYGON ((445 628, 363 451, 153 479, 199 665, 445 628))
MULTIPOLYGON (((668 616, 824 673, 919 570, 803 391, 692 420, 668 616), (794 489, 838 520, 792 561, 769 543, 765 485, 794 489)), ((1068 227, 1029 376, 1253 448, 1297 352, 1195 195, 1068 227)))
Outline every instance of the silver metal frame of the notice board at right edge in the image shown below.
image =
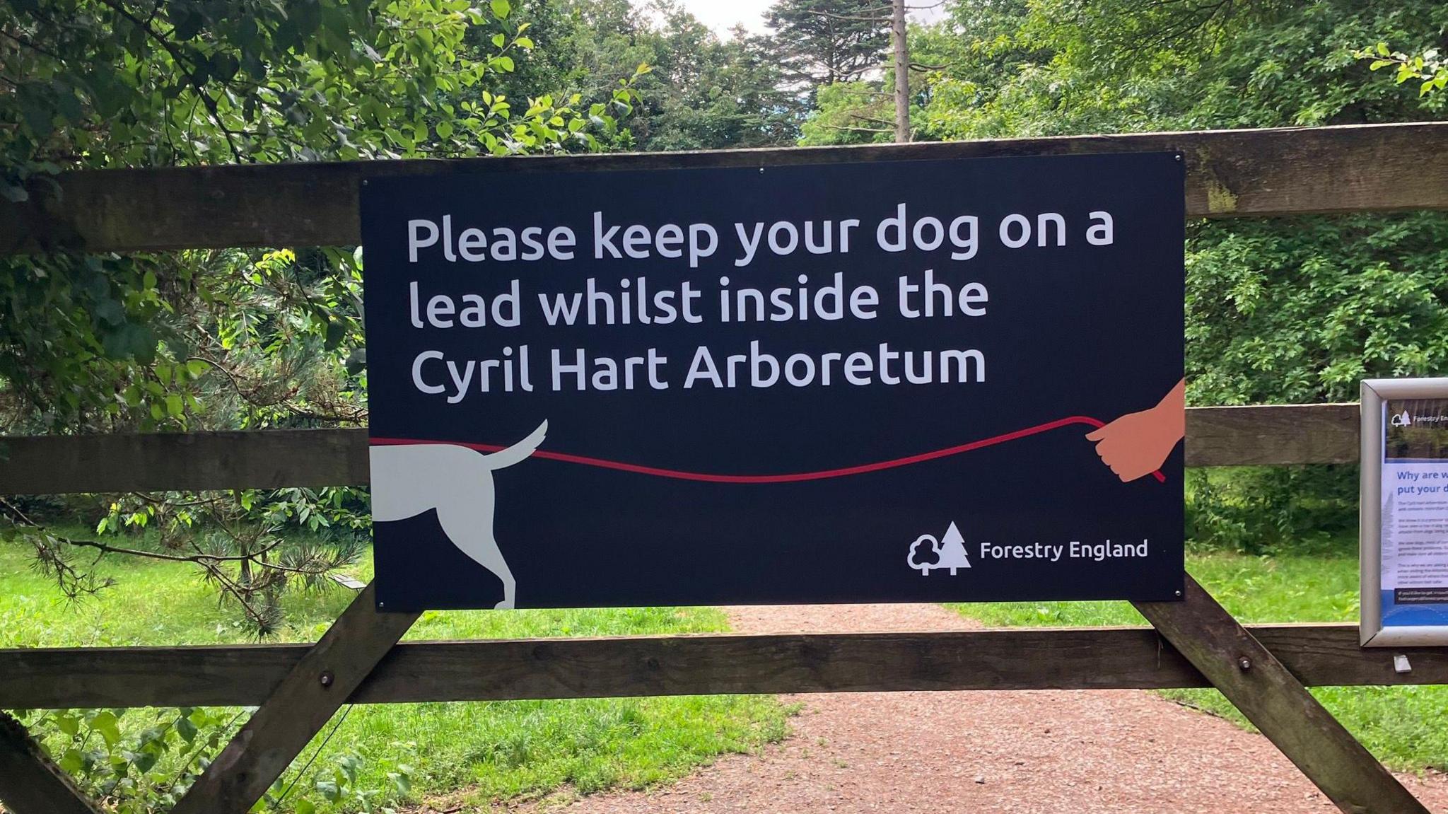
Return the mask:
MULTIPOLYGON (((1358 497, 1360 639, 1364 647, 1448 645, 1448 624, 1383 624, 1383 465, 1386 404, 1402 398, 1448 400, 1448 378, 1364 379, 1358 497)), ((1445 427, 1448 432, 1448 427, 1445 427)), ((1448 458, 1444 458, 1448 468, 1448 458)), ((1448 487, 1448 482, 1444 484, 1448 487)))

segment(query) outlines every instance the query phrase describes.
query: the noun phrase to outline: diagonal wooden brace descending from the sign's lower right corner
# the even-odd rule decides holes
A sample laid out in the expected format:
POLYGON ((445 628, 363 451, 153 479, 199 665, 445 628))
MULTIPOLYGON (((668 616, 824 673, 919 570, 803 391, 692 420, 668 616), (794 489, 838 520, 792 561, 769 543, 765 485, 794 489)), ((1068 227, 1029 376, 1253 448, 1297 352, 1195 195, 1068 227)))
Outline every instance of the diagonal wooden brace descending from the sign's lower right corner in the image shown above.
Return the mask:
POLYGON ((1132 604, 1338 808, 1428 814, 1196 579, 1180 603, 1132 604))

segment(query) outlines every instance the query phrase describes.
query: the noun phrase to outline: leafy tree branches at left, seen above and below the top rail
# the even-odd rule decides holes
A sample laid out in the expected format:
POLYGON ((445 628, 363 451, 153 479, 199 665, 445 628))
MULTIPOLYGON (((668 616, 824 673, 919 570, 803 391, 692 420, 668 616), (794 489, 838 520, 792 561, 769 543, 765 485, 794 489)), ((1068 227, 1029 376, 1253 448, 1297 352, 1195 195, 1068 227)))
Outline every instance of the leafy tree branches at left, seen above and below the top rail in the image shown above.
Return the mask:
MULTIPOLYGON (((0 4, 0 182, 19 200, 70 168, 508 155, 617 140, 617 116, 636 98, 627 78, 584 107, 578 96, 514 104, 488 90, 533 48, 507 1, 489 12, 463 0, 0 4), (479 30, 491 36, 469 36, 479 30)), ((352 351, 356 267, 339 251, 0 261, 4 423, 169 429, 197 411, 171 372, 197 349, 219 356, 237 336, 255 339, 249 358, 290 352, 279 359, 288 369, 316 359, 313 345, 352 351)), ((224 362, 211 366, 237 372, 224 362)), ((185 369, 187 381, 206 369, 185 369)))

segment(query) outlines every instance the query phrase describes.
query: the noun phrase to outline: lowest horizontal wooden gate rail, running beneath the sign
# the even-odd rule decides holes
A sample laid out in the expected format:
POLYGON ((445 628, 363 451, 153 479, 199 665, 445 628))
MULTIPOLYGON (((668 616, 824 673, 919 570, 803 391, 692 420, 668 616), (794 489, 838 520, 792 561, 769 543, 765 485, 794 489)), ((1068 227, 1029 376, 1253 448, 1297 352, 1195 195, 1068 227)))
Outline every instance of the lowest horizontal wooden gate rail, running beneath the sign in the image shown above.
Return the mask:
MULTIPOLYGON (((1248 630, 1309 687, 1448 684, 1444 647, 1363 649, 1355 624, 1248 630)), ((0 708, 256 705, 310 647, 0 650, 0 708)), ((1150 627, 1089 627, 404 642, 350 701, 1173 687, 1209 682, 1150 627)))

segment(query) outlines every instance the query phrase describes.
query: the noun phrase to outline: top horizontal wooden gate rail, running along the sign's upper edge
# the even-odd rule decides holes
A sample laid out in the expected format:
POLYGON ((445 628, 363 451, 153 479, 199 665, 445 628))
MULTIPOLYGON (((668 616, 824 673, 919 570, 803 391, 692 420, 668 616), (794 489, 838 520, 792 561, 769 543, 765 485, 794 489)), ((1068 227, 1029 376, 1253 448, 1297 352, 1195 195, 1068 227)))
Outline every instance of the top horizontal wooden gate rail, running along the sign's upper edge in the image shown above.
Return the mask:
POLYGON ((1448 209, 1448 123, 1199 130, 982 142, 711 152, 256 164, 67 172, 0 200, 0 255, 135 252, 361 242, 358 185, 385 175, 511 175, 698 167, 837 164, 1009 155, 1179 151, 1186 211, 1276 216, 1448 209))

